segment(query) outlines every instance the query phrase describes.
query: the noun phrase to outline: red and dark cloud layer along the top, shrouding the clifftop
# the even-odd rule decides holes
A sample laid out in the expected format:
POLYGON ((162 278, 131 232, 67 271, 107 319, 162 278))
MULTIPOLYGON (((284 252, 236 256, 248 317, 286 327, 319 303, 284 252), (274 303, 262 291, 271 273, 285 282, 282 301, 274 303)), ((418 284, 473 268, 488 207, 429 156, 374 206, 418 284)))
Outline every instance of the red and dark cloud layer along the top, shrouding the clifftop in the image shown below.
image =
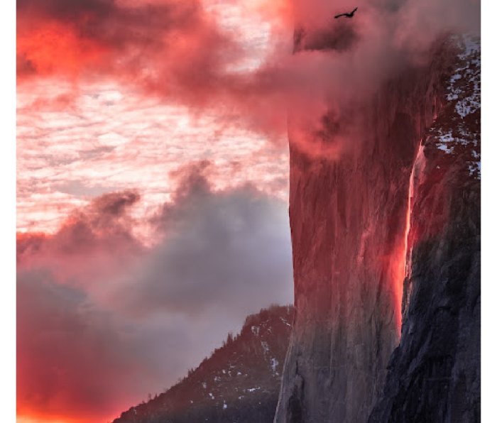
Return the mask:
POLYGON ((229 4, 219 1, 80 0, 68 7, 23 0, 18 71, 21 80, 111 75, 165 101, 215 109, 226 122, 243 118, 239 124, 280 139, 287 109, 302 126, 319 126, 316 116, 330 108, 341 118, 383 82, 422 63, 439 36, 479 31, 474 0, 288 0, 278 3, 282 16, 248 4, 238 8, 268 35, 253 66, 242 63, 256 40, 239 40, 236 23, 222 14, 229 4), (354 6, 353 19, 333 18, 354 6), (299 54, 294 28, 304 31, 299 54))

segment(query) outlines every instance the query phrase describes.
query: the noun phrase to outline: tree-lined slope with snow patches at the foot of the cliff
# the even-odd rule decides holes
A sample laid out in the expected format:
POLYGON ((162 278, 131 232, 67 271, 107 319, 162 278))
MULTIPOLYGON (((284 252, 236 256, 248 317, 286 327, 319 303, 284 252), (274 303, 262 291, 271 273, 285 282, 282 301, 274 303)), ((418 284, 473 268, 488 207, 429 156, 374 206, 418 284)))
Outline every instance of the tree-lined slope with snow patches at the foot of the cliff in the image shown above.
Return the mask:
POLYGON ((247 317, 238 336, 180 383, 114 423, 273 422, 292 320, 293 307, 247 317))

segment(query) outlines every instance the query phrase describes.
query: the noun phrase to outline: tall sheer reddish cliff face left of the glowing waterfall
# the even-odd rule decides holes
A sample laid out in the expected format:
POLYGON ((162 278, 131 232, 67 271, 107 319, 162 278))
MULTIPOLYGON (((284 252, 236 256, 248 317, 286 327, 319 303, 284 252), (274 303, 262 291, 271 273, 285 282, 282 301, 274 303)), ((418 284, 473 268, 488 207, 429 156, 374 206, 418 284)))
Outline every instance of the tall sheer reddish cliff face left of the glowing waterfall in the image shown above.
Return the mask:
MULTIPOLYGON (((420 141, 428 128, 435 131, 434 119, 447 108, 447 79, 455 62, 457 46, 452 41, 441 43, 430 63, 405 70, 373 99, 357 106, 349 119, 363 131, 342 148, 339 160, 303 152, 290 132, 296 314, 275 422, 366 422, 380 397, 389 358, 399 343, 406 253, 412 246, 414 275, 415 263, 431 260, 430 254, 439 247, 427 244, 423 231, 436 231, 442 243, 449 236, 440 230, 451 218, 438 216, 433 224, 427 223, 431 215, 420 212, 425 200, 410 202, 409 192, 420 141), (417 229, 417 222, 422 229, 417 229), (406 243, 409 227, 416 238, 411 236, 406 243)), ((325 116, 323 122, 329 119, 325 116)), ((332 129, 327 125, 324 133, 332 129)), ((457 187, 459 182, 453 182, 457 187)), ((444 191, 444 185, 438 189, 444 191)), ((430 200, 435 215, 440 202, 449 207, 446 202, 454 199, 450 207, 457 214, 457 207, 467 213, 467 203, 476 201, 470 196, 459 202, 455 192, 442 198, 437 194, 431 192, 430 200)), ((450 228, 455 236, 457 226, 450 228)), ((443 253, 430 263, 430 276, 453 257, 454 242, 452 247, 444 244, 443 253)), ((439 278, 446 280, 447 275, 439 278)), ((410 295, 405 303, 416 309, 422 296, 407 285, 410 295), (413 302, 414 298, 418 300, 413 302)), ((463 288, 454 289, 464 296, 463 288)), ((451 315, 450 309, 444 314, 451 315)), ((406 324, 403 338, 410 330, 406 324)), ((439 329, 446 330, 443 322, 439 329)))

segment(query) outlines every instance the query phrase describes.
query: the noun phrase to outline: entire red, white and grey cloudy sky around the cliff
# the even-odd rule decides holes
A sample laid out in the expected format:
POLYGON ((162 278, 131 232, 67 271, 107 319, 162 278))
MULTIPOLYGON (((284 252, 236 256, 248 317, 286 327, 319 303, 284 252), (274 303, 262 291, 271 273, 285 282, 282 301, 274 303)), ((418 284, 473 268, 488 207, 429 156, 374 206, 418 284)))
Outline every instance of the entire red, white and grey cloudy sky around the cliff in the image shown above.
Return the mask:
POLYGON ((107 422, 292 302, 287 131, 339 160, 361 136, 350 107, 476 11, 18 0, 19 422, 107 422))

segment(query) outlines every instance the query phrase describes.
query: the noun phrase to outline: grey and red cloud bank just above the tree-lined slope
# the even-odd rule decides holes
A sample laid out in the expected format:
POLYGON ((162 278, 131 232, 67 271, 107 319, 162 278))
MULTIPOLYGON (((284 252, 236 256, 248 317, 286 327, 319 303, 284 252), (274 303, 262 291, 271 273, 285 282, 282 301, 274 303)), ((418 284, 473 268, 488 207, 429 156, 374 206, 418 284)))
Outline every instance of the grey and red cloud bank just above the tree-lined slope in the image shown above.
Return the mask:
POLYGON ((75 211, 53 236, 18 238, 18 408, 99 421, 162 391, 236 331, 291 302, 288 215, 253 187, 214 192, 184 167, 173 202, 132 235, 136 192, 75 211))

